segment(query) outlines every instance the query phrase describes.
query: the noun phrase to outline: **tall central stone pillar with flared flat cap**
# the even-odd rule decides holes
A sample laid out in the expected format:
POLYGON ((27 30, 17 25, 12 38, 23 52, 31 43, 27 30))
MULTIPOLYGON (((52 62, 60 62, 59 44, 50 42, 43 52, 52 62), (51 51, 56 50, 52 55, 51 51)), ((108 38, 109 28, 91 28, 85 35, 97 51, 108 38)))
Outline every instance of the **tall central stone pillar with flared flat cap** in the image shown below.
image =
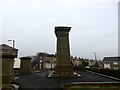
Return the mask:
POLYGON ((55 27, 57 37, 55 76, 73 76, 69 47, 70 29, 71 27, 55 27))

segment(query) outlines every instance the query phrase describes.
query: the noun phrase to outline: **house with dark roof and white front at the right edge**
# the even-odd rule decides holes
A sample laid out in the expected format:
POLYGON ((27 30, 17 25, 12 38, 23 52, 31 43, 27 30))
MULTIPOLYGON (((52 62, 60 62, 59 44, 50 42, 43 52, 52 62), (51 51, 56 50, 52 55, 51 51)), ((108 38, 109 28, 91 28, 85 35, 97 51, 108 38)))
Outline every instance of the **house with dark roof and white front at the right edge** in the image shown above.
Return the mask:
POLYGON ((103 65, 105 69, 120 69, 120 57, 104 57, 103 65))

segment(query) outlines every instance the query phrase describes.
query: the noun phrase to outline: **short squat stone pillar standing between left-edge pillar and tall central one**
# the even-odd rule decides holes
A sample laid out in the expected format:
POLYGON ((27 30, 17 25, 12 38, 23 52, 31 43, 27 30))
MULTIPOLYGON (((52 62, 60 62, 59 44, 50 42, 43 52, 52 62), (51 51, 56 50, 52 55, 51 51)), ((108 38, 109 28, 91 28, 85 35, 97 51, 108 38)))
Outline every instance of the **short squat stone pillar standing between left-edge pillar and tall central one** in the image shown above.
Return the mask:
POLYGON ((21 57, 20 60, 21 60, 20 75, 32 73, 31 58, 30 57, 21 57))

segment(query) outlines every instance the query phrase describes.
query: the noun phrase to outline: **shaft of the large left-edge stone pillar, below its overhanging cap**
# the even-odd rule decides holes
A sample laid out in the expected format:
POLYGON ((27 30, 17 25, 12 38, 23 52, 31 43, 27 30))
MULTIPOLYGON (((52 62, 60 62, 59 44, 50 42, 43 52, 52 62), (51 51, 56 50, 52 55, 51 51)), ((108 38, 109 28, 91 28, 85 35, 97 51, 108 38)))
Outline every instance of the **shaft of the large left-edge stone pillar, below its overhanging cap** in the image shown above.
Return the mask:
POLYGON ((13 71, 13 66, 14 66, 14 57, 7 57, 7 56, 2 56, 1 63, 2 63, 2 84, 9 84, 14 81, 14 71, 13 71))

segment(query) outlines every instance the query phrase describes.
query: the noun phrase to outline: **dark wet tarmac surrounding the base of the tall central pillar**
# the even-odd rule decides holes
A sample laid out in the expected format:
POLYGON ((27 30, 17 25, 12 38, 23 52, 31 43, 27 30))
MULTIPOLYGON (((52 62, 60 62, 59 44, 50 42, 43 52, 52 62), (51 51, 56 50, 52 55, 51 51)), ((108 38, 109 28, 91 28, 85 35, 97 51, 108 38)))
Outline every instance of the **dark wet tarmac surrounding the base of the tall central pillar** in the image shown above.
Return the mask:
POLYGON ((48 78, 48 71, 34 73, 30 75, 19 76, 16 78, 16 84, 20 86, 19 90, 41 90, 43 88, 58 89, 63 83, 72 82, 118 82, 117 80, 100 76, 87 71, 80 71, 80 78, 48 78))

